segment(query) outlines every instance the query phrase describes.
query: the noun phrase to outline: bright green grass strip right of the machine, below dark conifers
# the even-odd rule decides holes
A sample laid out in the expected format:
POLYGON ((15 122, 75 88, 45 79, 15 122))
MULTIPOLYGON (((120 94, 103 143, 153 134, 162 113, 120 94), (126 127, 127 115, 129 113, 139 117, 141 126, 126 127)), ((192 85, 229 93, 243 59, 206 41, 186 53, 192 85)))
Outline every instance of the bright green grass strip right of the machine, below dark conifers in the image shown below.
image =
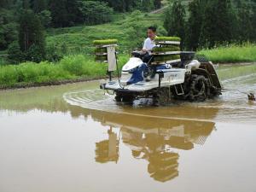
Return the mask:
POLYGON ((231 44, 215 49, 202 49, 198 54, 207 55, 210 61, 219 63, 256 61, 256 44, 231 44))

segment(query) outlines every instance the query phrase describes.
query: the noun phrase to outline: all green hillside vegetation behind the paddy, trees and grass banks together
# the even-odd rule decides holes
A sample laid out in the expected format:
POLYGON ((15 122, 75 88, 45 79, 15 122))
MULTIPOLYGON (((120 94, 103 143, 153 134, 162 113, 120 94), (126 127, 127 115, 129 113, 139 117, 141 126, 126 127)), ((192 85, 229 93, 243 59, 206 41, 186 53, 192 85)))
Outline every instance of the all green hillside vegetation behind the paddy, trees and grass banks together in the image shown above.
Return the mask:
POLYGON ((0 0, 0 88, 105 77, 107 65, 94 61, 92 42, 118 39, 120 69, 132 49, 142 48, 148 26, 157 26, 158 36, 182 38, 183 50, 197 49, 213 62, 256 61, 254 0, 129 3, 0 0), (61 6, 68 3, 72 9, 61 6))

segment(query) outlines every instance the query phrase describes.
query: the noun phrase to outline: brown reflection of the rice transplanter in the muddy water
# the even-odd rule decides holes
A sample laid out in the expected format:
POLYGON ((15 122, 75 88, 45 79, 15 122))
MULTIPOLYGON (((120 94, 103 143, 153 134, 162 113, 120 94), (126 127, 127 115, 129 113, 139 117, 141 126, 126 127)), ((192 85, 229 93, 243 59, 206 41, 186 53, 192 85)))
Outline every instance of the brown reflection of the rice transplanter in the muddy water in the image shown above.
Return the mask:
POLYGON ((117 162, 121 138, 131 148, 134 158, 148 161, 150 177, 159 182, 178 176, 177 149, 190 150, 195 144, 203 145, 214 129, 212 122, 144 117, 134 120, 129 115, 95 114, 96 116, 92 115, 93 118, 101 119, 102 125, 110 126, 108 139, 96 143, 96 161, 117 162), (120 133, 114 133, 113 128, 119 128, 120 133))

